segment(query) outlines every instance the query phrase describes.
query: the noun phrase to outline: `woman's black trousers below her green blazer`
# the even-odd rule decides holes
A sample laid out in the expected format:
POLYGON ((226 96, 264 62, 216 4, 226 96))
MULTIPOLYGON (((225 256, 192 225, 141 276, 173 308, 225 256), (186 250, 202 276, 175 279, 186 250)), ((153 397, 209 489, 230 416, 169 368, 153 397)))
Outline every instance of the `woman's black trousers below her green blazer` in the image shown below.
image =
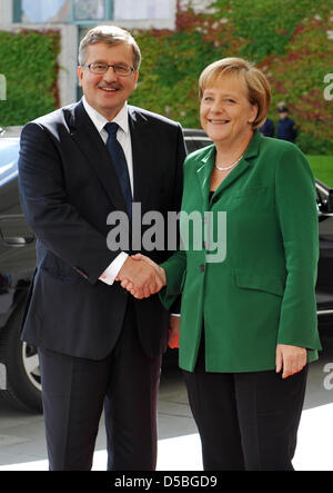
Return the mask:
POLYGON ((293 471, 307 366, 282 379, 275 371, 206 373, 201 344, 184 372, 205 471, 293 471))

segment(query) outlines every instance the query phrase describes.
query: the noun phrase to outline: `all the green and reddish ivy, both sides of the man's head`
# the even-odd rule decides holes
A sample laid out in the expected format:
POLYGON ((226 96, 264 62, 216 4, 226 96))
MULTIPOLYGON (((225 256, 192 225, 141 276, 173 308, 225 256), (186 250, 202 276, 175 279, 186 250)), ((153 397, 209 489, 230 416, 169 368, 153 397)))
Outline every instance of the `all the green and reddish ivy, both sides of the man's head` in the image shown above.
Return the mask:
MULTIPOLYGON (((333 100, 324 99, 324 77, 333 72, 333 0, 212 0, 205 13, 179 7, 174 31, 133 33, 143 55, 133 105, 200 127, 202 69, 223 57, 244 57, 270 80, 270 117, 276 122, 276 105, 285 101, 302 150, 333 154, 333 100)), ((23 124, 59 105, 59 47, 56 32, 0 32, 8 88, 0 126, 23 124)))

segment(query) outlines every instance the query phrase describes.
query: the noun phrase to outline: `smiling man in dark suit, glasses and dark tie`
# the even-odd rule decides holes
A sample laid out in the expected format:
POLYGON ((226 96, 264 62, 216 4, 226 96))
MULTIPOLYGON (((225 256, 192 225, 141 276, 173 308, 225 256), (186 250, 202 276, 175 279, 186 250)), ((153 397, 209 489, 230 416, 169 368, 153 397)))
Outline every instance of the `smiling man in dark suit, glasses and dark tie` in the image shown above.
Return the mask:
MULTIPOLYGON (((108 469, 155 467, 170 313, 158 295, 145 299, 162 284, 153 267, 130 257, 138 246, 107 245, 107 219, 129 214, 122 233, 130 240, 141 220, 135 213, 132 224, 131 203, 167 224, 168 211, 180 208, 185 148, 179 124, 127 105, 140 60, 129 32, 92 29, 79 50, 82 100, 21 135, 21 203, 38 253, 22 338, 39 348, 51 470, 91 469, 103 405, 108 469), (124 278, 141 300, 117 282, 124 278)), ((148 225, 140 228, 144 235, 148 225)), ((157 263, 168 257, 167 248, 147 254, 157 263)))

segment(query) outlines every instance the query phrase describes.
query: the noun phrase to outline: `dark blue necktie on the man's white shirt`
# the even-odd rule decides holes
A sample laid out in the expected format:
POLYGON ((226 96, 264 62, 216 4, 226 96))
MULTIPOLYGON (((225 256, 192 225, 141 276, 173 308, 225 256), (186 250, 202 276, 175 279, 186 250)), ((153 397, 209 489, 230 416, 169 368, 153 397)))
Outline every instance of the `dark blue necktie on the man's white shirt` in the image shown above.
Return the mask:
POLYGON ((122 195, 125 200, 127 209, 129 213, 129 218, 132 218, 132 191, 130 184, 129 169, 127 164, 127 158, 122 150, 121 145, 117 140, 117 131, 119 125, 114 122, 107 124, 104 129, 109 134, 107 140, 107 147, 111 155, 112 164, 114 166, 115 172, 118 175, 119 184, 121 187, 122 195))

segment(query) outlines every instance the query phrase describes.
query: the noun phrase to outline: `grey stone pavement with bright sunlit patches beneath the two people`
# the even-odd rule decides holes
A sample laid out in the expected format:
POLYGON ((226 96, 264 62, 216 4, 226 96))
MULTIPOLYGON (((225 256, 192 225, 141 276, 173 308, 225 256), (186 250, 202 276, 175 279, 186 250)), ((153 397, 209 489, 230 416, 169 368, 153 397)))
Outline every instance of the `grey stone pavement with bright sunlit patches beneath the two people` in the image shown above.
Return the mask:
MULTIPOLYGON (((294 466, 297 471, 333 471, 333 333, 319 362, 310 366, 294 466)), ((159 397, 160 471, 202 471, 200 440, 182 374, 172 355, 162 372, 159 397)), ((107 464, 103 418, 93 470, 107 464)), ((43 416, 0 406, 0 471, 48 470, 43 416)))

